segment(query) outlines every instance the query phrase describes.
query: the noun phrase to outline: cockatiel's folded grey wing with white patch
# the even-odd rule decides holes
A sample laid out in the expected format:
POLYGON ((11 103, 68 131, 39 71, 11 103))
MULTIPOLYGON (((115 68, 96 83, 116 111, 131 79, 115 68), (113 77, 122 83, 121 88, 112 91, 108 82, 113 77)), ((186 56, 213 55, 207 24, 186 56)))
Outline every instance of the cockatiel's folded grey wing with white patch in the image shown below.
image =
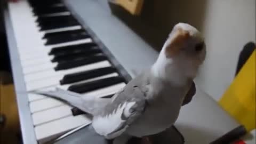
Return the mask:
POLYGON ((124 133, 146 108, 145 93, 138 87, 126 86, 113 97, 104 111, 93 117, 95 131, 107 139, 114 139, 124 133))

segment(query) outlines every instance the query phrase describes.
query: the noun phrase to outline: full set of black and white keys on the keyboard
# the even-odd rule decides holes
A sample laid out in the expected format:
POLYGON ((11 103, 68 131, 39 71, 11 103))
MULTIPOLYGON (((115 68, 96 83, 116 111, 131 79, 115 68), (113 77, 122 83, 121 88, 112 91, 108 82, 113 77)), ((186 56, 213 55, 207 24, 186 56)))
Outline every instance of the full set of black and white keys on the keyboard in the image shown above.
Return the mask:
POLYGON ((109 97, 125 78, 61 1, 19 1, 9 3, 9 11, 37 141, 90 123, 84 114, 73 116, 71 106, 30 92, 59 87, 109 97))

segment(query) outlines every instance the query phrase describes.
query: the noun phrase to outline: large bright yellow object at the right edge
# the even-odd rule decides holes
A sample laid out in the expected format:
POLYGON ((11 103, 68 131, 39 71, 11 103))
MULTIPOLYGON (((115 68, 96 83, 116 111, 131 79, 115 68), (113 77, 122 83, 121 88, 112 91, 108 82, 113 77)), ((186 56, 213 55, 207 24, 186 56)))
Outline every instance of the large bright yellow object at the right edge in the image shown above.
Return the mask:
POLYGON ((256 52, 254 50, 219 101, 221 107, 244 125, 248 132, 255 129, 256 123, 255 57, 256 52))

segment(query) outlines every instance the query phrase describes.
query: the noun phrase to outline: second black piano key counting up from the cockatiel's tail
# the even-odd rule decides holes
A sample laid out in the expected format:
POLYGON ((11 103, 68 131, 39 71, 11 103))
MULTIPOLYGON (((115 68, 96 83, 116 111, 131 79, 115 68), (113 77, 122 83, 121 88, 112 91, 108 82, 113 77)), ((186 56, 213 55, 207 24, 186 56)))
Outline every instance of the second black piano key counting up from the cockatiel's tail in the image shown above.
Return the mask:
POLYGON ((63 85, 63 84, 70 84, 70 83, 74 83, 82 80, 84 81, 86 79, 95 78, 95 77, 111 74, 114 72, 116 72, 115 68, 106 67, 106 68, 98 68, 98 69, 93 69, 88 71, 82 71, 75 74, 68 74, 68 75, 65 75, 60 80, 60 84, 63 85))

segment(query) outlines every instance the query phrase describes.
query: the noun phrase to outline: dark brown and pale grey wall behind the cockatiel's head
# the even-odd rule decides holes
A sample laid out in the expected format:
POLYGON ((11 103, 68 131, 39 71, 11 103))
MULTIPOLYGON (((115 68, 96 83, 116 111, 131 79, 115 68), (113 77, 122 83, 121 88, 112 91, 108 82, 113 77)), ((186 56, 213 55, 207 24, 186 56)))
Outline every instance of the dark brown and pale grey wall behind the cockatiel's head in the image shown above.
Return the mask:
POLYGON ((197 85, 219 100, 233 81, 239 52, 255 42, 255 0, 148 0, 140 17, 111 9, 156 50, 177 22, 188 22, 206 38, 207 57, 197 85))

